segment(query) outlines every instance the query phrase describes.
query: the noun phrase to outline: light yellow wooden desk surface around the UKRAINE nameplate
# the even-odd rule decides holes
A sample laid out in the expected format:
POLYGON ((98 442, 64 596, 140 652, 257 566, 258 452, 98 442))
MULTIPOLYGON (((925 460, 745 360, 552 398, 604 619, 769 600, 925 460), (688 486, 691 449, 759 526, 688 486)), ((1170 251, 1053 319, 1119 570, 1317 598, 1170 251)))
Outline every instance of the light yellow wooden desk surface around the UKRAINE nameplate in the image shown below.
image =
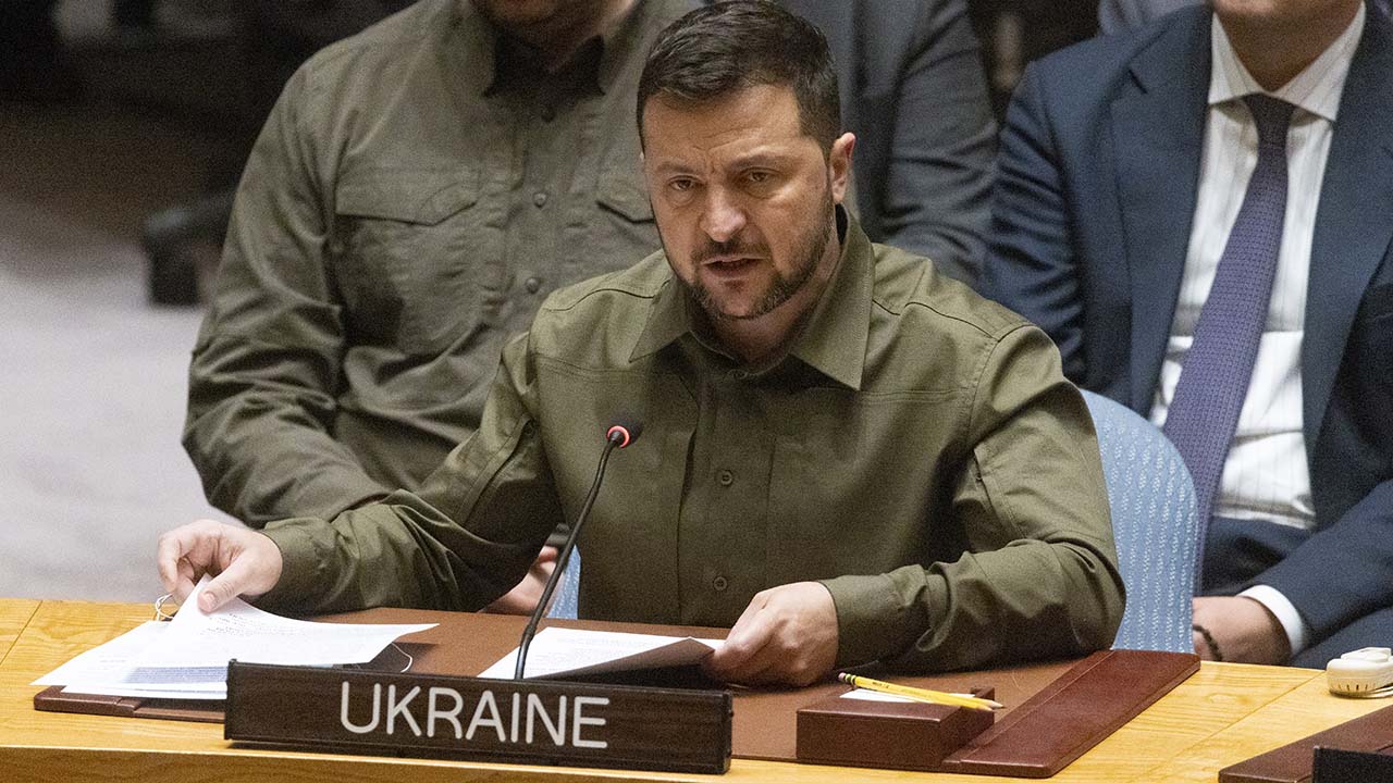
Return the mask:
MULTIPOLYGON (((150 617, 146 605, 0 599, 0 770, 7 782, 227 779, 341 783, 716 780, 705 775, 503 766, 233 748, 219 724, 35 712, 29 685, 74 655, 150 617), (7 642, 15 631, 18 638, 7 642), (506 772, 506 775, 500 775, 506 772)), ((1387 702, 1340 699, 1311 669, 1205 663, 1135 720, 1050 780, 1212 782, 1220 768, 1387 702)), ((770 783, 1015 780, 734 759, 729 780, 770 783)))

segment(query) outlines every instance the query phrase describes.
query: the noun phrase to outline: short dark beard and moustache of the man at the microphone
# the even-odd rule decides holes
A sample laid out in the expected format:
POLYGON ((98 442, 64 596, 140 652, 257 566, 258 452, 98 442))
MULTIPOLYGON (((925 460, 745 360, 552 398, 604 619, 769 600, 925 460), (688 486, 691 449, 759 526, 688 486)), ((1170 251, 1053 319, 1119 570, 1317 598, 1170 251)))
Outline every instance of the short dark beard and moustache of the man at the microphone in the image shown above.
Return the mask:
MULTIPOLYGON (((830 241, 829 223, 836 219, 833 216, 830 184, 822 191, 819 213, 825 216, 826 220, 816 220, 811 223, 808 230, 800 234, 797 242, 794 242, 793 269, 790 269, 788 273, 780 273, 777 269, 773 270, 773 280, 769 281, 763 293, 755 301, 755 305, 748 312, 733 313, 723 309, 720 301, 710 293, 709 288, 706 288, 706 286, 702 284, 695 270, 699 269, 708 258, 719 255, 772 258, 768 245, 744 242, 738 234, 724 242, 708 240, 692 256, 692 279, 685 280, 681 274, 678 274, 677 280, 687 288, 692 301, 701 305, 702 311, 705 311, 713 320, 754 320, 769 315, 770 312, 779 309, 780 305, 791 300, 794 294, 801 291, 802 287, 812 280, 814 273, 818 270, 818 262, 822 261, 822 255, 827 251, 827 242, 830 241)), ((662 231, 659 231, 659 238, 662 238, 662 231)), ((667 251, 666 242, 663 251, 667 251)))

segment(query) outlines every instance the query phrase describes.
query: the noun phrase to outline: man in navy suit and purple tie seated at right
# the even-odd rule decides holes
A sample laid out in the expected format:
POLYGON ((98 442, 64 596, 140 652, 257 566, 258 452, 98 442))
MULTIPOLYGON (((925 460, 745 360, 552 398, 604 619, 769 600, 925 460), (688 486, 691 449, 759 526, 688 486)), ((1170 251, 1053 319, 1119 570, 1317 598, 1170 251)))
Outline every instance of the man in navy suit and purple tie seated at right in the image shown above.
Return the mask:
POLYGON ((1195 648, 1393 639, 1393 25, 1212 0, 1032 65, 983 288, 1195 475, 1195 648))

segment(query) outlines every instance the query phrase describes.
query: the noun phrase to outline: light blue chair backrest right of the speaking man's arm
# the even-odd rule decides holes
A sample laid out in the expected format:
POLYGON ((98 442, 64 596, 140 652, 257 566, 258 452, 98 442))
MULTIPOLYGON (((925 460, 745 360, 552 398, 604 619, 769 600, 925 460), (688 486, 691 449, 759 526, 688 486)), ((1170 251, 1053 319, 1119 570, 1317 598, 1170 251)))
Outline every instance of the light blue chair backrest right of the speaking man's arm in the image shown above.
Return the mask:
POLYGON ((1131 408, 1084 392, 1098 429, 1127 609, 1114 648, 1194 652, 1191 599, 1199 518, 1185 463, 1131 408))

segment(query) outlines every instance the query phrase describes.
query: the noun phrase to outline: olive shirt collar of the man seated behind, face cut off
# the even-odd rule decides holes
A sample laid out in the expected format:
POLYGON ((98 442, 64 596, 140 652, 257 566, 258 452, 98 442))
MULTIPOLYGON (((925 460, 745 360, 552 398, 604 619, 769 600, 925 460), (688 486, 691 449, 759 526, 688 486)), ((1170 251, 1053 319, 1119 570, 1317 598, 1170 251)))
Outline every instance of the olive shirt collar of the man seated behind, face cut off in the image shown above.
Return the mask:
MULTIPOLYGON (((623 72, 624 63, 634 54, 634 47, 648 39, 644 35, 646 26, 652 24, 648 6, 649 3, 645 0, 634 0, 627 14, 598 36, 600 59, 595 71, 595 84, 600 92, 610 91, 623 72)), ((464 39, 464 50, 478 53, 476 60, 469 59, 472 67, 465 68, 465 72, 461 74, 465 89, 471 95, 488 95, 499 86, 499 32, 474 7, 472 0, 457 0, 456 13, 464 39)), ((585 49, 586 46, 582 45, 577 49, 577 54, 584 56, 585 49)))

